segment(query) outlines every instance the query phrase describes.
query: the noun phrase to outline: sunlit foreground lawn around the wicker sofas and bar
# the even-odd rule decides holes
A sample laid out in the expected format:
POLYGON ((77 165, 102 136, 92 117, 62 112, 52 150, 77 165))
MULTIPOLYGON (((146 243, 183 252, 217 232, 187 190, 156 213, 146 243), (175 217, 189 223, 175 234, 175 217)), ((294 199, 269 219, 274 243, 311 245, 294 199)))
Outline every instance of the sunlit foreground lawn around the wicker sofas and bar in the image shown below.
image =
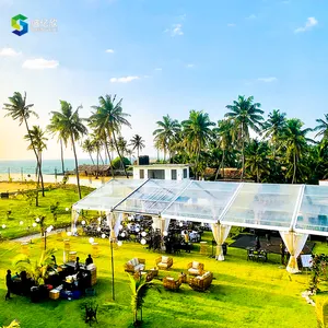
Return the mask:
MULTIPOLYGON (((211 239, 211 234, 206 233, 211 239)), ((128 277, 124 272, 124 263, 132 257, 145 258, 147 267, 154 266, 159 256, 148 251, 143 246, 126 243, 115 250, 115 286, 116 302, 110 294, 110 257, 108 242, 99 239, 101 255, 95 259, 98 282, 96 296, 99 304, 96 327, 131 327, 130 291, 128 277)), ((42 242, 31 245, 31 255, 36 257, 42 242)), ((49 237, 55 246, 57 260, 62 258, 62 242, 57 236, 49 237)), ((71 237, 71 249, 84 260, 91 251, 87 237, 71 237)), ((320 246, 320 250, 324 246, 320 246)), ((0 244, 0 294, 5 294, 4 276, 12 268, 12 259, 20 253, 20 245, 14 242, 0 244)), ((183 284, 178 292, 165 291, 160 280, 155 283, 161 293, 151 291, 145 298, 143 308, 143 327, 316 327, 314 307, 307 305, 301 297, 301 292, 307 286, 306 274, 290 276, 279 268, 279 257, 269 256, 269 262, 247 262, 246 251, 229 248, 226 261, 219 262, 200 255, 181 253, 174 256, 174 265, 169 274, 177 277, 186 271, 187 263, 198 260, 204 263, 207 270, 214 273, 210 290, 206 293, 192 291, 183 284)), ((13 268, 12 268, 13 269, 13 268)), ((160 271, 160 278, 167 272, 160 271)), ((10 302, 1 303, 0 324, 9 324, 16 318, 22 327, 84 327, 83 303, 79 301, 47 301, 32 304, 23 296, 14 295, 10 302)))

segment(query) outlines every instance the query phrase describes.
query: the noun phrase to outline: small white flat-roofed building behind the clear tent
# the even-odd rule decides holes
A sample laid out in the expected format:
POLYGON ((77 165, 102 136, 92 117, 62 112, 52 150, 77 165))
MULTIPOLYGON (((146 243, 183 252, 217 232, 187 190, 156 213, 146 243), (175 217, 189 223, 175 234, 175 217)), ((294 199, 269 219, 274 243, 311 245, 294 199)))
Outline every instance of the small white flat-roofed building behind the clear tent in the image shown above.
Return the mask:
POLYGON ((188 164, 133 165, 133 179, 189 179, 188 164))

